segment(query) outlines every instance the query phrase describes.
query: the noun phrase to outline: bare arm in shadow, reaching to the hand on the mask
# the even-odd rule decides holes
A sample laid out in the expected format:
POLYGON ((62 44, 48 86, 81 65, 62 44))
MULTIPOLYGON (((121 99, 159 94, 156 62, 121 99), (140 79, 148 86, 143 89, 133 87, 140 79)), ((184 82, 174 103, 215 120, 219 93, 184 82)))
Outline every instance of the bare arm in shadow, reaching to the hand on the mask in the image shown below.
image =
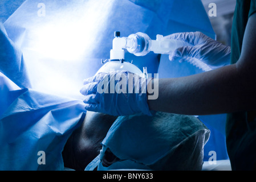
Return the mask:
POLYGON ((256 109, 256 14, 250 16, 238 62, 213 71, 159 80, 151 110, 204 115, 256 109))

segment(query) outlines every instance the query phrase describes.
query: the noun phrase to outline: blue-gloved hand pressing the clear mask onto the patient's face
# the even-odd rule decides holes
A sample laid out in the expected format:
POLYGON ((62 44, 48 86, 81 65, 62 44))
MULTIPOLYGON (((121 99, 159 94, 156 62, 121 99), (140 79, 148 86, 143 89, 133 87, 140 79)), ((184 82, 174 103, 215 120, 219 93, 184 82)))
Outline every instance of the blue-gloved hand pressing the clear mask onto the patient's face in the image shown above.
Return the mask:
POLYGON ((151 115, 147 102, 147 79, 137 74, 125 71, 99 73, 84 80, 80 93, 85 96, 84 103, 89 111, 109 115, 141 112, 151 115), (135 77, 135 81, 130 81, 132 77, 135 77))

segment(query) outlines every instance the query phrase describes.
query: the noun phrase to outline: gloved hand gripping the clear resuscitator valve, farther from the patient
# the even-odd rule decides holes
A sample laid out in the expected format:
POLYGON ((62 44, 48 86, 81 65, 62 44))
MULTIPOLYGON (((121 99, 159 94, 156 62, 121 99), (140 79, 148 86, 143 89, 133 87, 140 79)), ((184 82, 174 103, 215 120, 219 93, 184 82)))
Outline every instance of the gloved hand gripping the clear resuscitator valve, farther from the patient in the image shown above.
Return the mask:
POLYGON ((169 60, 182 61, 185 59, 198 59, 211 69, 230 64, 230 47, 225 46, 202 34, 202 32, 184 32, 165 36, 164 39, 183 40, 190 46, 177 48, 169 55, 169 60))

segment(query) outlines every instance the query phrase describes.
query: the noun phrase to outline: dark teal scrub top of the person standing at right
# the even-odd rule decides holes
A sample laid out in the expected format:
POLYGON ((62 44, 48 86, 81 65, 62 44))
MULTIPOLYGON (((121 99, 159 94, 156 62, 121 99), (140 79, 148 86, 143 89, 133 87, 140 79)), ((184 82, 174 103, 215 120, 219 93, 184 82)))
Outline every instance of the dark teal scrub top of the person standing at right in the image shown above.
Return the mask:
MULTIPOLYGON (((237 63, 241 55, 246 24, 255 12, 256 0, 237 0, 232 27, 231 64, 237 63)), ((256 169, 256 111, 227 114, 226 145, 233 170, 256 169)))

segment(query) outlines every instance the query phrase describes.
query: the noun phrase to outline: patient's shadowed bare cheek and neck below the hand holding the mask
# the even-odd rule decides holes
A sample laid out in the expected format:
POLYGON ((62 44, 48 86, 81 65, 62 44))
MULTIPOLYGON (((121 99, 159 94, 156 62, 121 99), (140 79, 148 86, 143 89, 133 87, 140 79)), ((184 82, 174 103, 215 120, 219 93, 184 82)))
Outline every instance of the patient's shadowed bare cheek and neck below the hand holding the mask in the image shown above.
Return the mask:
POLYGON ((84 170, 99 155, 101 142, 117 117, 87 111, 84 122, 68 139, 62 152, 64 166, 84 170))

